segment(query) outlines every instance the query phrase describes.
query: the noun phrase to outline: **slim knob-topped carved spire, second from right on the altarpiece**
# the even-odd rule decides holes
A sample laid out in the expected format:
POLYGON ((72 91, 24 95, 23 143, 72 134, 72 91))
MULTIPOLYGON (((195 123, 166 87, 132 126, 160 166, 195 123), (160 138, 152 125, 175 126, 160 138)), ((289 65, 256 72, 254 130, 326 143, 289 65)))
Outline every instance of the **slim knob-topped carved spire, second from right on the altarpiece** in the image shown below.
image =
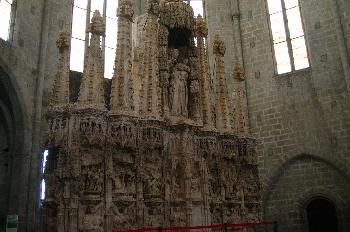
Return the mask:
POLYGON ((215 81, 216 81, 216 127, 219 131, 231 131, 230 106, 225 74, 223 57, 226 52, 224 41, 215 35, 214 54, 215 54, 215 81))

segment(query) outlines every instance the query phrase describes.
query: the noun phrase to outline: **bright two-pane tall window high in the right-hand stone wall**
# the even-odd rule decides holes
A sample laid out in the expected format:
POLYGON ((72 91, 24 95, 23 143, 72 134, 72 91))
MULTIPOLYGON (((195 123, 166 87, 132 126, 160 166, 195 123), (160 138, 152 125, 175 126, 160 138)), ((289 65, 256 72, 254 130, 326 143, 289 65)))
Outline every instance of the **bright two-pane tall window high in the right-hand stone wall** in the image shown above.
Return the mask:
POLYGON ((267 0, 277 73, 308 68, 299 0, 267 0))

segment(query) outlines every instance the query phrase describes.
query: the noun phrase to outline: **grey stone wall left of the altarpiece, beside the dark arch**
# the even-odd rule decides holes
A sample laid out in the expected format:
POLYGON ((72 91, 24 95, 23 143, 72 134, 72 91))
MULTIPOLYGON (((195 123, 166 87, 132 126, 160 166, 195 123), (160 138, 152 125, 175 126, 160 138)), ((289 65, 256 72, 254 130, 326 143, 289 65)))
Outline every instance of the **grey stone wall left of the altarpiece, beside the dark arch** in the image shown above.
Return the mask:
POLYGON ((7 164, 8 170, 0 179, 6 186, 0 198, 8 204, 1 204, 0 216, 18 214, 20 231, 37 231, 42 96, 47 99, 51 91, 58 59, 55 41, 69 19, 70 6, 71 0, 17 1, 12 39, 0 39, 0 89, 15 125, 8 131, 14 141, 9 158, 3 159, 1 152, 1 169, 7 164))

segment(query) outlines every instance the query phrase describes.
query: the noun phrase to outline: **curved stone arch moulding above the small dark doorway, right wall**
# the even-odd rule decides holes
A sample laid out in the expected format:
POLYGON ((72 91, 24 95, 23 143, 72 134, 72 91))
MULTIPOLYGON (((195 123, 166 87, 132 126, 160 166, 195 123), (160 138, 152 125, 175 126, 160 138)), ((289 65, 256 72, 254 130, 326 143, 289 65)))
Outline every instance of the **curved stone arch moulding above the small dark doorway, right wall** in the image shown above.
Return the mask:
POLYGON ((316 156, 312 154, 299 154, 290 158, 286 162, 282 163, 278 168, 275 169, 277 171, 273 172, 272 177, 268 180, 262 192, 262 202, 263 202, 264 209, 266 208, 266 202, 268 201, 271 193, 269 190, 273 185, 275 185, 278 182, 280 177, 283 175, 284 170, 287 170, 289 166, 296 163, 297 161, 304 160, 304 159, 313 159, 329 165, 334 170, 336 170, 341 176, 343 176, 344 179, 350 184, 350 176, 348 174, 348 171, 345 168, 345 166, 340 163, 340 160, 338 160, 337 158, 332 157, 332 159, 328 159, 325 157, 316 156))

